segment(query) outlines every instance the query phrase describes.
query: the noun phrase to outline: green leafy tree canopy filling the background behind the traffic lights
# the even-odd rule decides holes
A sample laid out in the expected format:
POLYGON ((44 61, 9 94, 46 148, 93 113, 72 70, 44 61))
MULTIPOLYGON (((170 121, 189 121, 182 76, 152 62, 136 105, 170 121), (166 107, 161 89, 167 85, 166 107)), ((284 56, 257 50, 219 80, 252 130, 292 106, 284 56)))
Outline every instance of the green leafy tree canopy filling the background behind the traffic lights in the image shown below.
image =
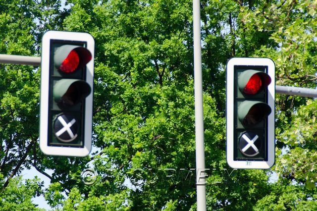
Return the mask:
MULTIPOLYGON (((208 210, 317 209, 315 99, 276 95, 270 170, 234 170, 225 158, 227 59, 269 57, 276 85, 315 89, 316 8, 316 0, 201 0, 208 210)), ((2 54, 40 56, 48 30, 96 42, 86 158, 42 154, 41 69, 0 64, 0 210, 41 210, 36 196, 53 210, 196 210, 192 22, 190 0, 0 0, 2 54), (49 187, 21 177, 31 167, 49 187), (81 175, 88 168, 98 175, 91 185, 81 175)))

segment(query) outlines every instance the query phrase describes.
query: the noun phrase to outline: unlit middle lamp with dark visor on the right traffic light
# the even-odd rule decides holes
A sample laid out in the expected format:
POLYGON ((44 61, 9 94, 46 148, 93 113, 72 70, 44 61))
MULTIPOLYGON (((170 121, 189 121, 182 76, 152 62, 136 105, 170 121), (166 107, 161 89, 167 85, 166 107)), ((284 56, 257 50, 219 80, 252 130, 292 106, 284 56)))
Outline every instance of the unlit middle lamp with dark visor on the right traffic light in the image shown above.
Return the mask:
POLYGON ((252 127, 261 122, 271 113, 271 108, 260 101, 244 101, 238 107, 238 118, 240 122, 252 127))

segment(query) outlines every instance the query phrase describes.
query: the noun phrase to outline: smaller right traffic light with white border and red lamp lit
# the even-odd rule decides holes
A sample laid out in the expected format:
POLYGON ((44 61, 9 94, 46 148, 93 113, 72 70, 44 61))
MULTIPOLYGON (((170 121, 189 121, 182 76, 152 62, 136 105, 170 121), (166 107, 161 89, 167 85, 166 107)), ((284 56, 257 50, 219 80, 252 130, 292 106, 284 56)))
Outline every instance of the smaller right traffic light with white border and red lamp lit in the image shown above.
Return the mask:
POLYGON ((270 168, 275 162, 275 64, 269 58, 231 58, 226 77, 227 162, 232 168, 270 168))

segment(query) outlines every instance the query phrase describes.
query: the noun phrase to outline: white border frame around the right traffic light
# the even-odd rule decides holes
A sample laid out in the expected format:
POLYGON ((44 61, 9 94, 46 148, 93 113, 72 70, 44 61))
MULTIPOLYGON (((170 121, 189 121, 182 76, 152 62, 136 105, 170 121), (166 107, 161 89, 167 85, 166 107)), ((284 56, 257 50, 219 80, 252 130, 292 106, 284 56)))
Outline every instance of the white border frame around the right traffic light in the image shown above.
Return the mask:
POLYGON ((238 58, 234 57, 228 60, 226 68, 226 118, 227 118, 227 162, 232 168, 249 168, 249 169, 267 169, 270 168, 275 162, 275 64, 270 58, 238 58), (246 161, 234 160, 234 66, 267 66, 267 74, 271 78, 271 83, 268 85, 267 103, 273 108, 272 112, 268 115, 267 120, 267 139, 268 139, 268 160, 267 161, 246 161))

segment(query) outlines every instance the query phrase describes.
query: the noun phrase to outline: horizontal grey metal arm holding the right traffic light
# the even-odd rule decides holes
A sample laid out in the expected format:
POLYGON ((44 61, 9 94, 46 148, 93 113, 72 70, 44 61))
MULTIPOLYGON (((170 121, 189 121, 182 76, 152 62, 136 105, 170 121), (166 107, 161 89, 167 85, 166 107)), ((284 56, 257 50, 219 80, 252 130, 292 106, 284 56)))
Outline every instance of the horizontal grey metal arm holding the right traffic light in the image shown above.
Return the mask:
POLYGON ((317 89, 309 89, 302 87, 275 86, 275 93, 317 98, 317 89))

